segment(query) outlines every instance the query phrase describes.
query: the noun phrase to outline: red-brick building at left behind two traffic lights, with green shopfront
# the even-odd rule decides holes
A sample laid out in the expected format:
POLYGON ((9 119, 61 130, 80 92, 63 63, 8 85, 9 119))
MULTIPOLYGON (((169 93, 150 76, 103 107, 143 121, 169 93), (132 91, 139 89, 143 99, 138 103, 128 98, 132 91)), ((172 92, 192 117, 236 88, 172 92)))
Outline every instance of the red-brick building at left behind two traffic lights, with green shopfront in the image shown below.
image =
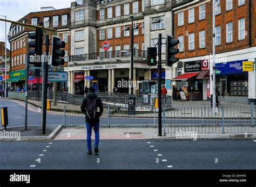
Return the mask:
MULTIPOLYGON (((41 8, 39 12, 30 12, 28 15, 19 19, 19 22, 37 25, 42 21, 44 27, 53 28, 57 30, 57 35, 66 42, 65 50, 65 64, 68 65, 68 56, 70 55, 70 8, 56 10, 52 7, 41 8)), ((23 88, 25 84, 25 56, 29 51, 28 46, 28 30, 22 26, 11 24, 9 30, 9 42, 11 45, 11 72, 9 74, 9 87, 16 89, 17 87, 23 88), (18 75, 18 77, 16 77, 18 75)), ((51 43, 50 35, 50 43, 51 43)), ((51 52, 51 45, 49 51, 51 52)), ((45 46, 43 53, 45 53, 45 46)), ((60 70, 63 70, 63 68, 60 70)), ((52 70, 50 68, 50 70, 52 70)), ((30 70, 32 76, 35 75, 35 70, 30 70)), ((30 81, 29 84, 36 83, 36 78, 30 81)), ((42 82, 42 80, 40 80, 42 82)), ((58 84, 60 87, 65 87, 64 83, 58 84), (61 84, 61 85, 60 85, 61 84)))

